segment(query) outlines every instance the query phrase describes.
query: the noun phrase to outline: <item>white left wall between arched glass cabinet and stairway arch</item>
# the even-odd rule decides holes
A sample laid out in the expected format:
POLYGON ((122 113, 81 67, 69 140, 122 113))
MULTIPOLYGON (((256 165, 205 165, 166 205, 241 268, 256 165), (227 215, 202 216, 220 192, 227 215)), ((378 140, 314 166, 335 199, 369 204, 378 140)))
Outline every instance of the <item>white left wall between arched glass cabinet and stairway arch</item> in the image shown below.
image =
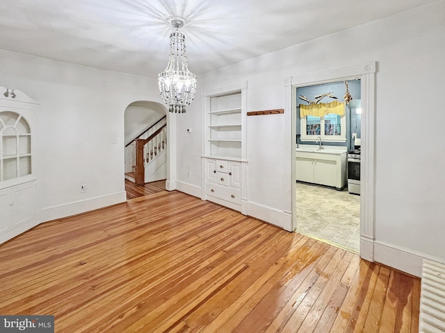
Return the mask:
POLYGON ((0 51, 0 66, 0 85, 40 102, 33 124, 40 219, 126 200, 124 110, 134 101, 161 103, 156 80, 8 51, 0 51))

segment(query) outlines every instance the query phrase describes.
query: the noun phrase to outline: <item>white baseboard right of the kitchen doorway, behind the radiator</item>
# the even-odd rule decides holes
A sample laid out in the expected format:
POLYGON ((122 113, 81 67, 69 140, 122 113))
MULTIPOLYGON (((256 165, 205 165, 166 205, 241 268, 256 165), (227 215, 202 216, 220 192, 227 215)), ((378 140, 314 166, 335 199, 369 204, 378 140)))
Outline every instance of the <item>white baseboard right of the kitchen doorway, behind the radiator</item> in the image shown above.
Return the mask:
POLYGON ((383 241, 374 241, 374 261, 398 269, 405 273, 421 277, 423 261, 430 259, 435 262, 443 262, 443 260, 418 253, 407 248, 387 244, 383 241))

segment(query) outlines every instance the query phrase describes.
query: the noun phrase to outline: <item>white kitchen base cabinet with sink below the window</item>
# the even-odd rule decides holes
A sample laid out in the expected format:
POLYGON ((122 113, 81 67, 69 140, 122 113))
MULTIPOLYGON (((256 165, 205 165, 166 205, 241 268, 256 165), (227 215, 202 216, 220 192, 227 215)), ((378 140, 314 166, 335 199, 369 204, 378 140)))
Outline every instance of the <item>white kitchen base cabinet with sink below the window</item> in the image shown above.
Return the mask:
POLYGON ((302 182, 343 189, 346 185, 346 151, 296 151, 296 177, 302 182))

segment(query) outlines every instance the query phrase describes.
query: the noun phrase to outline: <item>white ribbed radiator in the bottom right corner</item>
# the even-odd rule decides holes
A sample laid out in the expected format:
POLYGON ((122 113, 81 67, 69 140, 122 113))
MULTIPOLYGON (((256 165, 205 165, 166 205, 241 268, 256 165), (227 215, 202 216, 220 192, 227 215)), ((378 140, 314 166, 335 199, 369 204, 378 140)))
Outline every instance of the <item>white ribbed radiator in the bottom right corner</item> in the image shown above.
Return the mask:
POLYGON ((420 333, 445 332, 445 265, 425 260, 420 296, 420 333))

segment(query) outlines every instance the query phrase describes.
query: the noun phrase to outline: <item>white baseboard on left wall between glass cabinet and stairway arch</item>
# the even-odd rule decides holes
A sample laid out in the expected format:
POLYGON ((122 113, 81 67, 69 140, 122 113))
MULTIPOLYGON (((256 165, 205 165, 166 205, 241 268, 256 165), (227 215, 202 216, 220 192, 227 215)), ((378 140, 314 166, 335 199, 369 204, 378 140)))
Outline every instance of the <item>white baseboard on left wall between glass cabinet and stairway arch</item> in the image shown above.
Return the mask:
POLYGON ((43 208, 40 211, 40 223, 90 212, 91 210, 97 210, 117 203, 124 203, 125 201, 127 201, 127 192, 122 191, 106 196, 97 196, 86 200, 74 201, 73 203, 43 208))

